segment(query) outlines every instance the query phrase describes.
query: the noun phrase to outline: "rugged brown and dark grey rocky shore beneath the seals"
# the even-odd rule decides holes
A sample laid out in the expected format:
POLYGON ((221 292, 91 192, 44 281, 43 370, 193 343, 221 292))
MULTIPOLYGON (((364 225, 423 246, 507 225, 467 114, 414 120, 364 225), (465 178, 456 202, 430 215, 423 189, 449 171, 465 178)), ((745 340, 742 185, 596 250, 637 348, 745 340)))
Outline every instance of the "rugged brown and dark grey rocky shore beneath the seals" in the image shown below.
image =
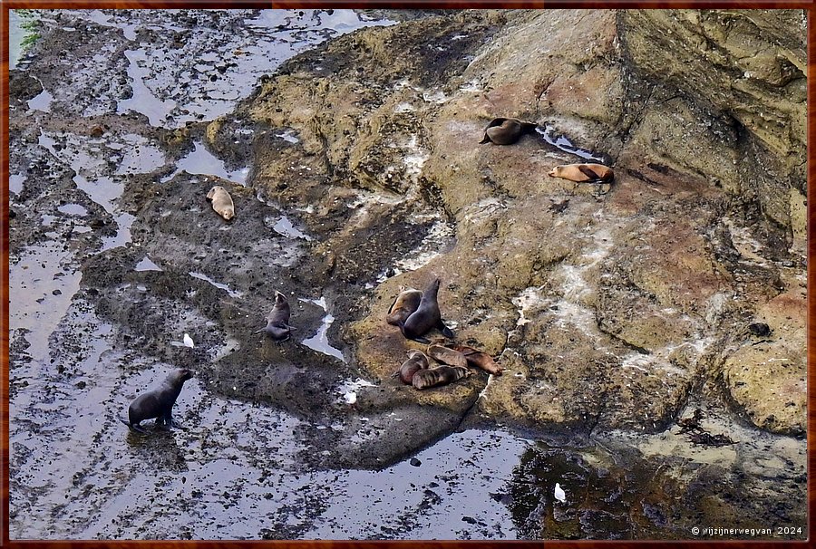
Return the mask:
MULTIPOLYGON (((36 521, 26 528, 21 515, 53 512, 48 497, 32 499, 50 494, 53 479, 25 495, 24 478, 47 459, 26 440, 52 437, 49 426, 66 420, 26 403, 73 402, 89 386, 100 391, 98 423, 69 438, 92 436, 99 457, 77 472, 76 490, 88 489, 82 479, 96 468, 132 464, 140 452, 170 459, 170 476, 207 463, 208 452, 232 454, 238 435, 220 438, 227 427, 207 423, 229 402, 228 418, 268 409, 294 425, 248 425, 238 445, 248 448, 238 463, 253 439, 289 452, 291 462, 278 464, 286 475, 399 469, 452 434, 529 433, 537 446, 520 455, 504 496, 490 495, 521 538, 688 538, 723 509, 756 524, 804 525, 803 13, 376 15, 388 24, 333 36, 264 72, 247 69, 252 48, 270 40, 247 30, 264 15, 44 14, 28 68, 10 77, 11 173, 24 181, 10 199, 12 288, 35 290, 30 303, 14 293, 12 303, 11 481, 22 497, 12 537, 102 535, 77 506, 51 533, 36 521), (211 33, 192 37, 202 24, 211 33), (88 63, 101 44, 99 63, 88 63), (151 55, 179 66, 162 75, 151 55), (259 75, 254 91, 218 100, 231 97, 220 79, 240 71, 259 75), (123 107, 136 82, 158 101, 153 111, 123 107), (43 93, 47 106, 33 108, 43 93), (480 145, 495 116, 534 120, 541 131, 508 147, 480 145), (607 193, 548 176, 580 161, 577 149, 611 161, 607 193), (230 222, 204 200, 213 185, 235 201, 230 222), (40 263, 53 280, 32 280, 40 263), (436 277, 456 341, 497 357, 502 376, 474 371, 425 391, 391 377, 421 345, 385 313, 401 286, 436 277), (254 333, 276 291, 298 328, 281 344, 254 333), (193 349, 173 344, 183 332, 193 349), (118 367, 101 371, 105 361, 118 367), (188 382, 193 403, 180 399, 188 429, 176 435, 193 449, 170 437, 102 457, 121 447, 113 425, 128 396, 170 365, 198 372, 188 382), (349 391, 353 407, 342 399, 349 391), (734 444, 679 434, 677 422, 697 408, 706 432, 731 433, 734 444), (558 479, 567 506, 552 499, 558 479), (738 494, 729 479, 743 482, 738 494), (604 503, 616 491, 623 496, 604 503), (759 503, 769 500, 778 505, 759 503)), ((319 16, 348 24, 341 10, 319 16)), ((243 467, 260 479, 279 474, 243 467)), ((145 482, 131 479, 124 492, 101 478, 91 486, 123 497, 145 482)), ((209 482, 179 489, 206 494, 209 482)), ((423 489, 412 513, 451 505, 423 489)), ((88 506, 117 508, 83 493, 88 506)), ((119 537, 330 535, 320 528, 331 494, 291 507, 283 494, 268 505, 301 516, 302 527, 214 534, 195 519, 181 532, 160 506, 160 532, 132 507, 109 512, 119 537)), ((154 497, 169 501, 160 490, 154 497)), ((189 508, 204 521, 219 515, 201 505, 189 508)), ((507 524, 466 516, 462 537, 508 535, 507 524)), ((434 535, 412 524, 383 535, 434 535)))

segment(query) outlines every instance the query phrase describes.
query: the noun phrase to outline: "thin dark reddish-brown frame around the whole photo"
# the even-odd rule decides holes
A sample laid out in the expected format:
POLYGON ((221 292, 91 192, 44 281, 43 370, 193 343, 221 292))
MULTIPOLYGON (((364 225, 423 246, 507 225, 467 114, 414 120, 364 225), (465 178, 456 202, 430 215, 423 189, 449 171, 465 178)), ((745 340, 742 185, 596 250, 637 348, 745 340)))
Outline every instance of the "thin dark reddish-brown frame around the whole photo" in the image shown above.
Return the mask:
POLYGON ((802 541, 626 541, 626 542, 609 542, 609 541, 535 541, 535 542, 495 542, 495 541, 252 541, 252 542, 219 542, 219 541, 11 541, 9 539, 9 52, 8 52, 8 35, 9 35, 9 10, 22 8, 35 9, 57 9, 57 8, 72 8, 72 9, 91 9, 91 8, 442 8, 442 9, 463 9, 463 8, 596 8, 596 9, 615 9, 615 8, 695 8, 695 9, 719 9, 725 7, 737 7, 741 9, 771 9, 771 8, 787 8, 787 9, 803 9, 808 12, 808 324, 807 324, 807 342, 808 342, 808 537, 810 540, 814 539, 814 524, 812 520, 812 510, 814 502, 816 502, 816 485, 814 485, 814 478, 810 475, 814 464, 814 450, 816 447, 816 395, 814 395, 814 386, 816 386, 816 377, 814 377, 814 370, 811 367, 814 358, 814 342, 816 342, 816 324, 812 322, 814 314, 816 314, 816 301, 812 295, 816 286, 813 284, 814 267, 811 264, 810 258, 816 254, 816 243, 811 237, 811 226, 814 223, 814 211, 816 211, 816 190, 813 189, 813 182, 816 181, 816 164, 813 162, 813 143, 816 142, 816 123, 814 123, 813 107, 814 99, 816 99, 816 86, 814 86, 814 76, 816 76, 816 0, 810 1, 758 1, 758 2, 734 2, 727 0, 720 1, 644 1, 644 0, 617 0, 614 2, 496 2, 491 0, 451 0, 448 2, 423 2, 421 0, 405 0, 403 2, 388 2, 381 0, 369 1, 355 1, 355 0, 341 0, 341 1, 318 1, 318 0, 299 0, 299 1, 282 1, 282 2, 254 2, 254 1, 51 1, 51 0, 2 0, 0 5, 0 19, 2 19, 2 78, 0 78, 0 98, 2 98, 3 116, 2 126, 0 126, 0 148, 2 148, 2 169, 0 169, 0 201, 2 201, 2 210, 0 210, 0 243, 2 243, 2 296, 0 296, 0 307, 2 307, 2 315, 0 315, 0 322, 2 322, 2 333, 0 333, 0 390, 2 390, 2 398, 0 398, 0 414, 2 414, 2 434, 0 434, 0 444, 2 444, 2 475, 0 475, 0 486, 2 486, 2 508, 0 508, 0 532, 2 532, 2 544, 13 547, 142 547, 142 548, 159 548, 159 547, 185 547, 185 548, 216 548, 216 547, 293 547, 303 549, 340 549, 351 547, 384 547, 384 548, 403 548, 403 549, 420 549, 420 548, 440 548, 440 549, 458 549, 458 548, 487 548, 498 545, 507 544, 513 547, 553 547, 553 548, 589 548, 589 547, 626 547, 632 549, 646 549, 663 547, 667 544, 675 545, 694 545, 695 547, 716 546, 723 548, 734 547, 750 547, 752 549, 761 548, 778 548, 782 546, 809 546, 809 542, 802 541))

